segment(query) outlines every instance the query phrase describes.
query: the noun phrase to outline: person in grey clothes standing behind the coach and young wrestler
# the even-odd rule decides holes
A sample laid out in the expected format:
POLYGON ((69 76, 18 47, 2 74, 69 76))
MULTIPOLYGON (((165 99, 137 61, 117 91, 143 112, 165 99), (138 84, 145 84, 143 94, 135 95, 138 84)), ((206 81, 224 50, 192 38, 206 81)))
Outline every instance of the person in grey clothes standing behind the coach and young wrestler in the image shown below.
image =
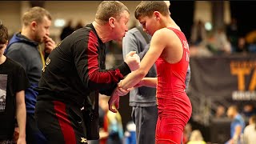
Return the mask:
MULTIPOLYGON (((136 51, 140 59, 144 57, 150 47, 151 36, 146 34, 141 26, 128 30, 122 39, 123 57, 130 51, 136 51)), ((152 66, 146 77, 155 78, 156 68, 152 66)), ((158 106, 155 98, 156 90, 151 87, 138 87, 130 91, 130 103, 133 107, 131 117, 136 125, 136 139, 138 144, 154 143, 155 126, 158 120, 158 106)))

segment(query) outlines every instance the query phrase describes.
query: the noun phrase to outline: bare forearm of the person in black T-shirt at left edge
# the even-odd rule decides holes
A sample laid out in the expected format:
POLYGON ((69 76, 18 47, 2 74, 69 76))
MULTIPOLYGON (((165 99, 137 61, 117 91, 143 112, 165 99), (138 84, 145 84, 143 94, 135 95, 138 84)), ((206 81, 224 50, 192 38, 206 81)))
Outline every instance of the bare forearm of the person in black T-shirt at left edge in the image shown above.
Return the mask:
POLYGON ((16 93, 16 117, 18 122, 19 134, 17 144, 26 143, 26 104, 25 91, 16 93))

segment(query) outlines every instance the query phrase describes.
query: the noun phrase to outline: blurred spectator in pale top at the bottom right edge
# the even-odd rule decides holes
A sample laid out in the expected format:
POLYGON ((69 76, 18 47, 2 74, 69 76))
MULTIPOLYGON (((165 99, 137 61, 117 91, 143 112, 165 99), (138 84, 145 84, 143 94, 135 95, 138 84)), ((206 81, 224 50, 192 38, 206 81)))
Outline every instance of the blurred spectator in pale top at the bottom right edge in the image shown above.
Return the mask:
POLYGON ((244 143, 254 144, 256 140, 256 115, 250 116, 249 125, 244 131, 244 143))

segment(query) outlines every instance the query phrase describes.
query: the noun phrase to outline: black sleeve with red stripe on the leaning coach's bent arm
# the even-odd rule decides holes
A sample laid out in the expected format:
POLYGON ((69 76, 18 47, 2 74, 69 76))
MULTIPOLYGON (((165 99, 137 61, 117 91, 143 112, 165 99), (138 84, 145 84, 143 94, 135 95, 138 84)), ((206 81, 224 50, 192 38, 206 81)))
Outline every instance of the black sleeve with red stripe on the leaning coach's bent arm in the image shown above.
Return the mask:
POLYGON ((113 87, 130 73, 130 68, 123 62, 110 70, 102 70, 98 57, 98 54, 101 54, 98 51, 100 48, 97 36, 90 31, 86 38, 74 44, 74 64, 84 86, 90 90, 108 90, 109 95, 114 90, 113 87))

